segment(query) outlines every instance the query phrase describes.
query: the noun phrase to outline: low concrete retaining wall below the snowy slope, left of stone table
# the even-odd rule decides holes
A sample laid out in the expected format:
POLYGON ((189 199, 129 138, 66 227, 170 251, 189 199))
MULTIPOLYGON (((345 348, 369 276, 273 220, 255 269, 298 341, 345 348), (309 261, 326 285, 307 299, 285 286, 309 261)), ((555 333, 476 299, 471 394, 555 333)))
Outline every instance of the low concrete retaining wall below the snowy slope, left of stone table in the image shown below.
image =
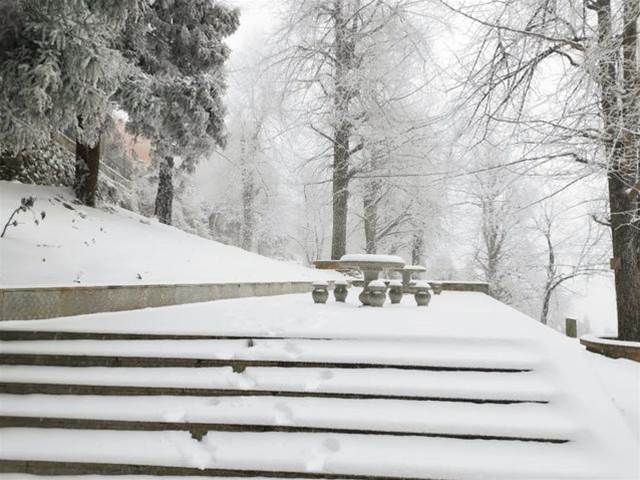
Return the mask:
POLYGON ((0 320, 34 320, 309 291, 310 282, 3 288, 0 320))

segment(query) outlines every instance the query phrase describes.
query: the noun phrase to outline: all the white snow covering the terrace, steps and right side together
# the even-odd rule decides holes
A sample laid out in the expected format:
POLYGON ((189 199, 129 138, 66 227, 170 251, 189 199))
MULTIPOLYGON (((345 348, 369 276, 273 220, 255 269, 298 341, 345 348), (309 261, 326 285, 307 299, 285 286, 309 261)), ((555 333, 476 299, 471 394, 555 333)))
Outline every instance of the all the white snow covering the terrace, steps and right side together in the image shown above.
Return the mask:
POLYGON ((429 478, 631 480, 640 475, 638 398, 634 396, 640 388, 638 364, 588 353, 576 340, 481 293, 444 292, 427 308, 416 307, 405 296, 402 304, 383 309, 358 307, 357 293, 356 289, 350 292, 347 304, 315 305, 310 295, 287 295, 0 325, 8 330, 184 333, 244 340, 117 340, 109 341, 112 348, 92 340, 11 341, 3 342, 0 350, 527 371, 399 370, 375 365, 250 366, 242 372, 230 366, 4 366, 0 370, 4 382, 231 389, 247 395, 108 399, 2 395, 3 415, 351 428, 415 435, 210 431, 198 441, 188 432, 177 431, 10 428, 1 432, 0 457, 429 478), (272 391, 279 394, 271 396, 272 391), (294 393, 310 397, 296 398, 294 393), (332 398, 332 394, 371 398, 332 398), (381 395, 397 398, 380 399, 381 395), (524 403, 479 404, 473 399, 524 403), (431 438, 419 436, 421 432, 569 441, 431 438))

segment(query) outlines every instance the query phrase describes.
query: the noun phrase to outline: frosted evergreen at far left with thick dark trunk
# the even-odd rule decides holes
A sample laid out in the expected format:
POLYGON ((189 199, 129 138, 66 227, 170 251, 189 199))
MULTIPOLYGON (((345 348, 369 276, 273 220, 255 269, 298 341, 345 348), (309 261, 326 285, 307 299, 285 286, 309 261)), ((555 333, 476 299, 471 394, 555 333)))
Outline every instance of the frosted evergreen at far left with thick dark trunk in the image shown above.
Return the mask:
POLYGON ((76 193, 95 204, 100 131, 127 71, 115 48, 147 0, 0 3, 0 143, 14 153, 76 137, 76 193))

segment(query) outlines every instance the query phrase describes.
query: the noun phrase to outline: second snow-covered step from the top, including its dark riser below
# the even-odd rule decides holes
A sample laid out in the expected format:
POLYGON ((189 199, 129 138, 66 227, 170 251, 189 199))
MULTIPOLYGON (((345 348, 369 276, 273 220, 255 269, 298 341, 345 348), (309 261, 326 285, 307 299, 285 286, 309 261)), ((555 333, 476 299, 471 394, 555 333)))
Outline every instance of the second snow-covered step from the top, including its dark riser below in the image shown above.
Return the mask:
POLYGON ((533 373, 330 368, 102 368, 12 365, 5 393, 291 395, 327 398, 548 402, 557 389, 533 373))

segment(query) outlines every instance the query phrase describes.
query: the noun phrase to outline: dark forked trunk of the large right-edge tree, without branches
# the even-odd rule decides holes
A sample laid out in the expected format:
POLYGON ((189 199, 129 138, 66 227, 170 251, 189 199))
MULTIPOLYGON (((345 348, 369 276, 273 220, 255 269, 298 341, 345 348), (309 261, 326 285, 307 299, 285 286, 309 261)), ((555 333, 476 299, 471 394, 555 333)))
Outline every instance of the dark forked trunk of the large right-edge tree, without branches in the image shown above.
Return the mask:
POLYGON ((637 181, 637 137, 631 132, 638 128, 633 96, 637 75, 637 0, 625 2, 623 33, 623 92, 620 99, 617 82, 617 51, 613 35, 611 1, 599 0, 598 42, 602 52, 599 62, 601 110, 605 131, 605 149, 609 161, 607 173, 609 208, 613 243, 612 267, 615 271, 616 303, 618 309, 618 338, 640 341, 640 230, 637 220, 638 202, 630 195, 630 187, 637 181), (623 105, 620 111, 620 100, 623 105), (635 125, 634 125, 635 123, 635 125), (622 128, 622 132, 620 131, 622 128), (634 224, 635 222, 635 224, 634 224))

